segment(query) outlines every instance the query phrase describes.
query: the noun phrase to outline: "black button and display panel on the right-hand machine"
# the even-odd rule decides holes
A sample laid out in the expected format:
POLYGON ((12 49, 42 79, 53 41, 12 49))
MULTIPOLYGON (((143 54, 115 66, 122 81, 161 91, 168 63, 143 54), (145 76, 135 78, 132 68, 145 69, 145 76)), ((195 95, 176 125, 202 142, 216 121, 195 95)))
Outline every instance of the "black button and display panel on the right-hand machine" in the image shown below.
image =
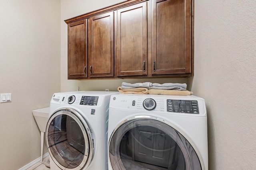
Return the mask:
POLYGON ((199 114, 198 102, 196 100, 167 100, 167 111, 199 114))

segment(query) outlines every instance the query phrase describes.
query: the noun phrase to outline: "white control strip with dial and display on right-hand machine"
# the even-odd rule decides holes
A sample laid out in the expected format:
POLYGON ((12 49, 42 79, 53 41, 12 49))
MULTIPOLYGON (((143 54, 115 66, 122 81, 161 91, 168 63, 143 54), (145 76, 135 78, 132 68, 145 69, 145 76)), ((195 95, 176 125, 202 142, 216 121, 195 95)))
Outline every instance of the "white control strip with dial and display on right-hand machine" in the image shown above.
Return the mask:
MULTIPOLYGON (((114 94, 110 108, 142 113, 164 113, 172 115, 205 116, 204 99, 197 96, 175 96, 156 94, 114 94)), ((120 111, 120 113, 122 113, 120 111)))

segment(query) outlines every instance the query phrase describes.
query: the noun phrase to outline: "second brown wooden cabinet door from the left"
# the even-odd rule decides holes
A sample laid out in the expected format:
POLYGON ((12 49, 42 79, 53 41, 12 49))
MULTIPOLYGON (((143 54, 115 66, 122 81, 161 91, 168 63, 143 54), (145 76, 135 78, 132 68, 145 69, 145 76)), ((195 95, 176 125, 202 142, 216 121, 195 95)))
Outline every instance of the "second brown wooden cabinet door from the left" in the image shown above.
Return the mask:
POLYGON ((113 12, 88 19, 90 77, 114 76, 113 12))

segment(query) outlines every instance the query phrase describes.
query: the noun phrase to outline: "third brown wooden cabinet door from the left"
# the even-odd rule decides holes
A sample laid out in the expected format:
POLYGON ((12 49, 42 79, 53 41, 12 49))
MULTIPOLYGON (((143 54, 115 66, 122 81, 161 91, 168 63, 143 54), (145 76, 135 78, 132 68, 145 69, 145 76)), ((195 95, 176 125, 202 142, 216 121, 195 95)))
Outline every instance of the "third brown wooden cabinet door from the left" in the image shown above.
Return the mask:
POLYGON ((117 76, 147 74, 146 2, 117 10, 117 76))

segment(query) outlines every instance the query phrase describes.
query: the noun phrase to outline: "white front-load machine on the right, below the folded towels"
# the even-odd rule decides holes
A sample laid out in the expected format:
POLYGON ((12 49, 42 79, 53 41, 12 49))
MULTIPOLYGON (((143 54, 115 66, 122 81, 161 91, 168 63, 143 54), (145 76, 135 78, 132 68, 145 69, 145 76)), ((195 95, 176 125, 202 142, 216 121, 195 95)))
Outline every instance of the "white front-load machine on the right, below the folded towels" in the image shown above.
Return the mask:
POLYGON ((207 115, 197 96, 114 94, 109 170, 208 170, 207 115))

